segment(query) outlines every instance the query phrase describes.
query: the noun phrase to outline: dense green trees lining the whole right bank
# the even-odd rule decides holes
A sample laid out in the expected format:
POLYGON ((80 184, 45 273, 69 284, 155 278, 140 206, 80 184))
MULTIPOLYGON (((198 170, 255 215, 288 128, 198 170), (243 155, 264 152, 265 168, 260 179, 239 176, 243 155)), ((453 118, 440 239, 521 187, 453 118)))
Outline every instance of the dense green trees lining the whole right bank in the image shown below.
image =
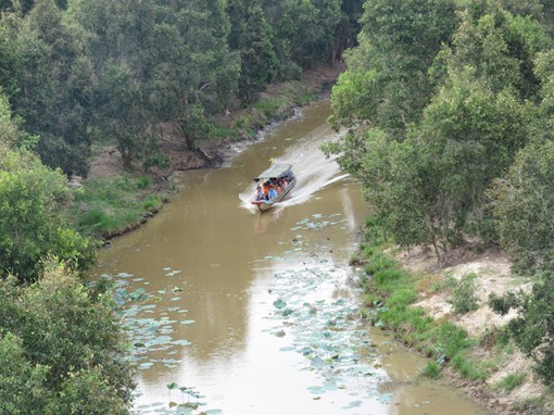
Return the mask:
POLYGON ((554 381, 554 8, 549 1, 372 0, 332 90, 343 140, 401 247, 500 244, 532 292, 492 297, 516 343, 554 381))

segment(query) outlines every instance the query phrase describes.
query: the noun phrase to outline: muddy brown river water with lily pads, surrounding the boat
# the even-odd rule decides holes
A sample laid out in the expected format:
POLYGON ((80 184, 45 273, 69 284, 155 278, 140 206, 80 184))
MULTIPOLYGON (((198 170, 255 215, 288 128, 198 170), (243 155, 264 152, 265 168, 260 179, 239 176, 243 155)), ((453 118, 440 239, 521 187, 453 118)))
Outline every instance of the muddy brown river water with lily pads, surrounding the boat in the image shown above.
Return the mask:
POLYGON ((180 191, 100 253, 129 327, 137 414, 487 414, 425 360, 358 319, 348 266, 370 212, 326 159, 329 102, 303 109, 180 191), (252 178, 294 165, 290 198, 259 214, 252 178))

